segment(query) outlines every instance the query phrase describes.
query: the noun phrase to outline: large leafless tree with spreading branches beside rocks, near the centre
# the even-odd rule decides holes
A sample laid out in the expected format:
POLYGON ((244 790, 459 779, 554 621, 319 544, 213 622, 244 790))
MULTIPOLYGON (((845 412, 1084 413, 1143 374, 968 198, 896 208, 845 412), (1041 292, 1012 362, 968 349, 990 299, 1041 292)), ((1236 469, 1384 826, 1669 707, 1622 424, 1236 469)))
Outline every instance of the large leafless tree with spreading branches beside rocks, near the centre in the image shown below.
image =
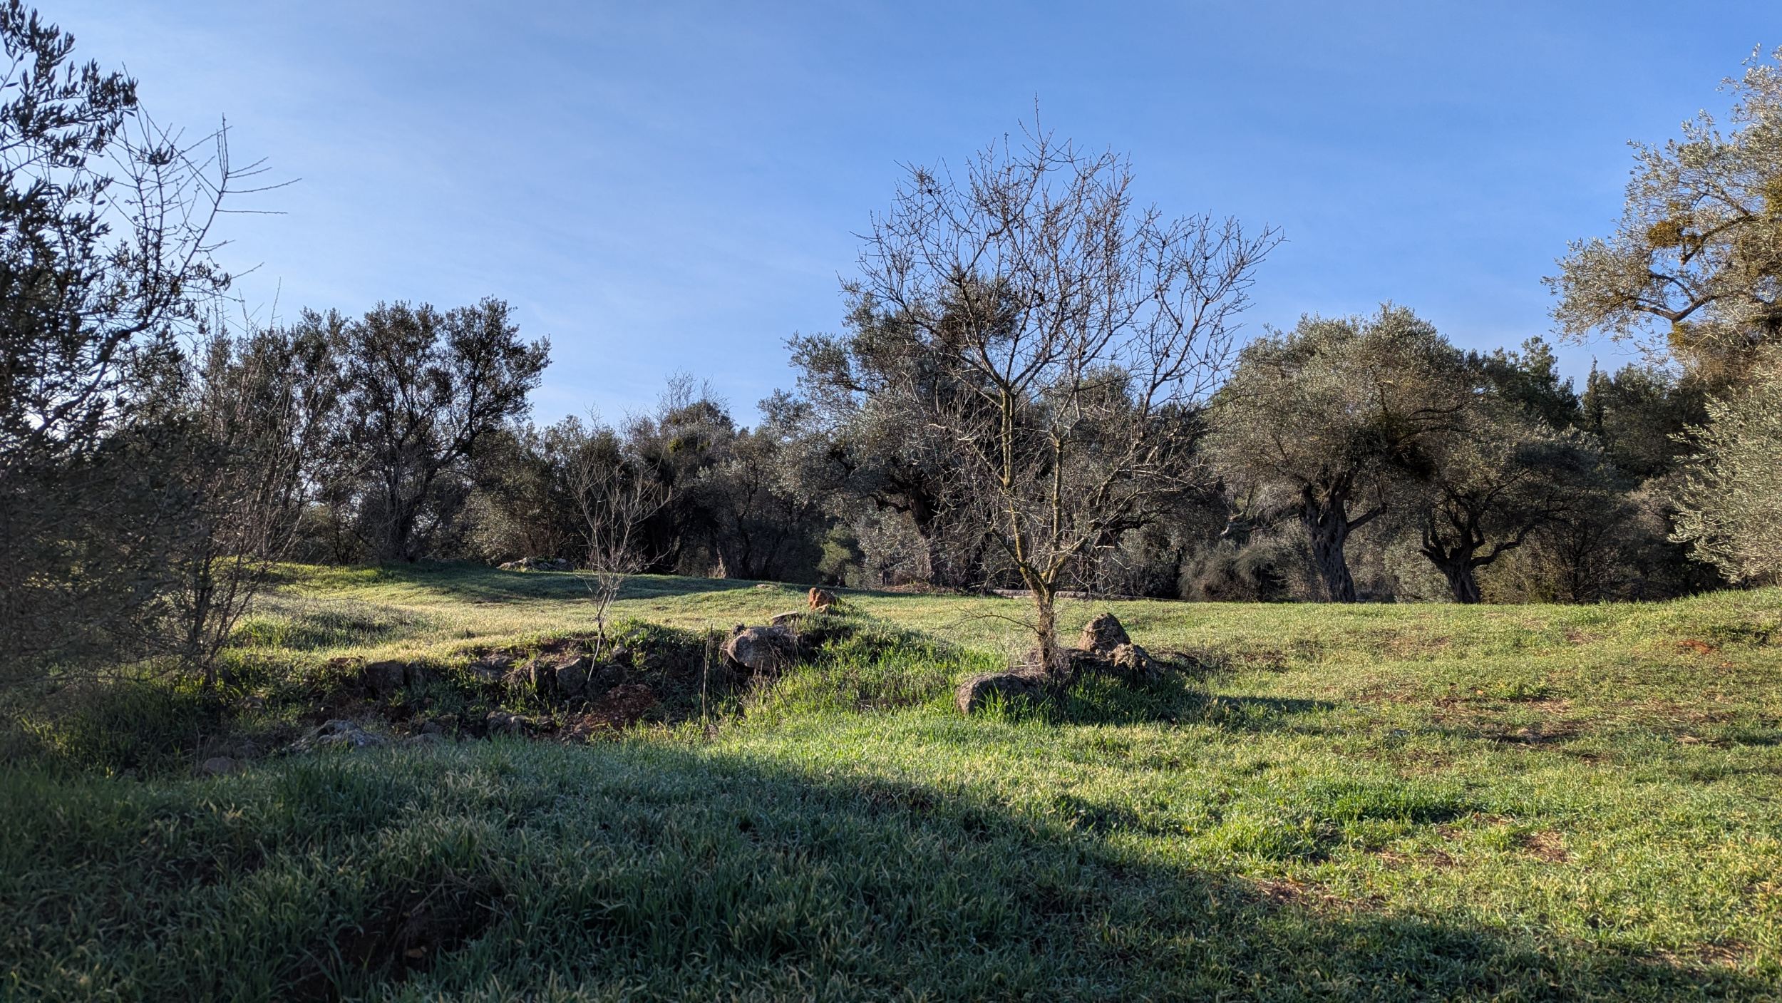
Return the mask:
MULTIPOLYGON (((846 290, 909 324, 957 388, 925 420, 1032 591, 1034 661, 1057 686, 1060 583, 1196 479, 1185 415, 1276 239, 1139 207, 1126 159, 1037 128, 962 176, 911 167, 871 221, 846 290)), ((923 388, 900 378, 889 392, 923 388)))

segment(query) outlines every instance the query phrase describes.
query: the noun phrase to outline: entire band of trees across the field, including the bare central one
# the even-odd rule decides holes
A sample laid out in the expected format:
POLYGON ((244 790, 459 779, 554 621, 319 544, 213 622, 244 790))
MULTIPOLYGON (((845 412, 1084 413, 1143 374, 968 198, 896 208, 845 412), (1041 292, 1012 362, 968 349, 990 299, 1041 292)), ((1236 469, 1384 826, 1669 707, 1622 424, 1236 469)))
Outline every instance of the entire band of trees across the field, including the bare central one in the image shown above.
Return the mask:
MULTIPOLYGON (((11 2, 0 89, 0 661, 208 673, 280 561, 560 558, 640 572, 1062 593, 1597 602, 1782 575, 1782 69, 1641 148, 1549 283, 1552 349, 1468 353, 1411 308, 1238 338, 1278 235, 1133 201, 1037 126, 918 167, 841 333, 788 342, 743 428, 529 422, 547 340, 495 298, 230 322, 212 224, 244 178, 11 2)), ((1777 53, 1782 57, 1782 50, 1777 53)), ((597 584, 595 584, 597 583, 597 584)))

